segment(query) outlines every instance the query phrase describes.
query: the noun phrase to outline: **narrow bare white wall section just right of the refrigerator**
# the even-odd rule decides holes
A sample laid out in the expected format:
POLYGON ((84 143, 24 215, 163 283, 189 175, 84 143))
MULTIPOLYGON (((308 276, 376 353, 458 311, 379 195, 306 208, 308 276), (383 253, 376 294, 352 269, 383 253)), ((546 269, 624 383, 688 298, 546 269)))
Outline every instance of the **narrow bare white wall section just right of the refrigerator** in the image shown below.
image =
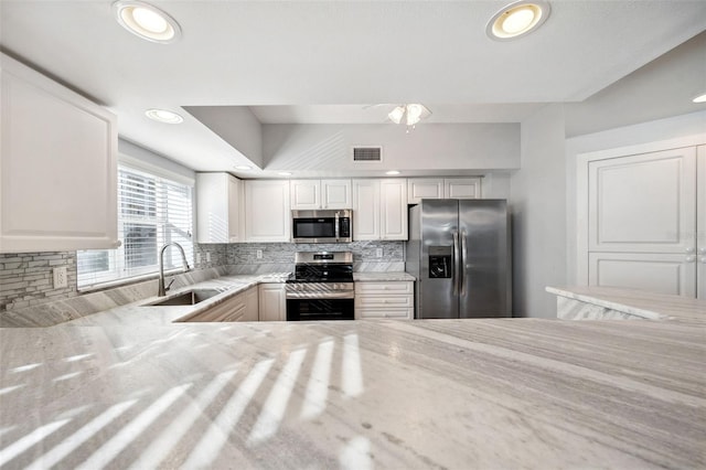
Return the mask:
POLYGON ((556 318, 546 286, 566 282, 564 108, 548 105, 522 122, 522 167, 511 177, 513 312, 556 318))

